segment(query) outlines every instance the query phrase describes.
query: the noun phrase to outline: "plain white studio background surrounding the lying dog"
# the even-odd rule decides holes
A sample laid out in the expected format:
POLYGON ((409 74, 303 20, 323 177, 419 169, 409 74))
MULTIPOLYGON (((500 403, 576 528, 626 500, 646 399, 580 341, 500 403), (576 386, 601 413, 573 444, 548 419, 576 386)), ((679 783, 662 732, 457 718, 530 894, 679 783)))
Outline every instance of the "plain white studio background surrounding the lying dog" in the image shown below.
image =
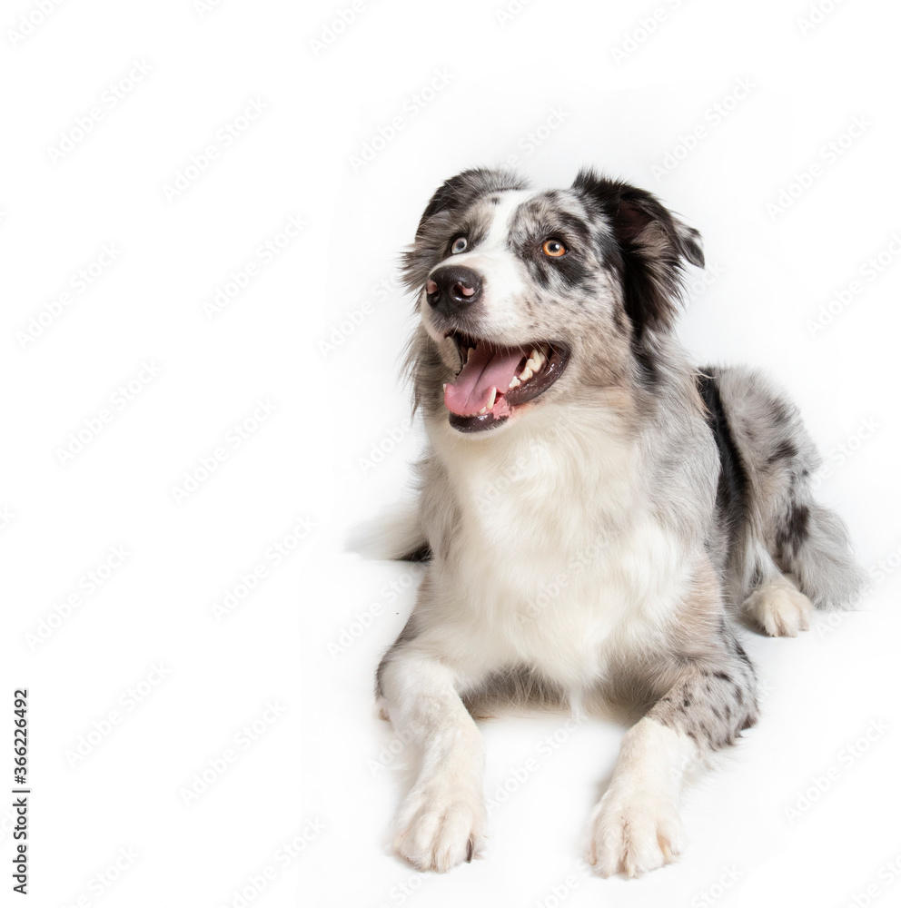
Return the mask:
POLYGON ((27 686, 30 903, 896 903, 895 5, 825 0, 812 23, 804 0, 42 3, 0 22, 0 787, 27 686), (761 720, 689 796, 682 861, 638 881, 578 863, 623 728, 563 716, 484 726, 487 795, 516 789, 484 860, 423 875, 389 848, 414 761, 372 675, 419 575, 345 541, 421 448, 398 253, 443 179, 510 156, 538 185, 596 165, 698 226, 682 338, 787 386, 831 467, 818 494, 874 571, 855 614, 748 632, 761 720))

